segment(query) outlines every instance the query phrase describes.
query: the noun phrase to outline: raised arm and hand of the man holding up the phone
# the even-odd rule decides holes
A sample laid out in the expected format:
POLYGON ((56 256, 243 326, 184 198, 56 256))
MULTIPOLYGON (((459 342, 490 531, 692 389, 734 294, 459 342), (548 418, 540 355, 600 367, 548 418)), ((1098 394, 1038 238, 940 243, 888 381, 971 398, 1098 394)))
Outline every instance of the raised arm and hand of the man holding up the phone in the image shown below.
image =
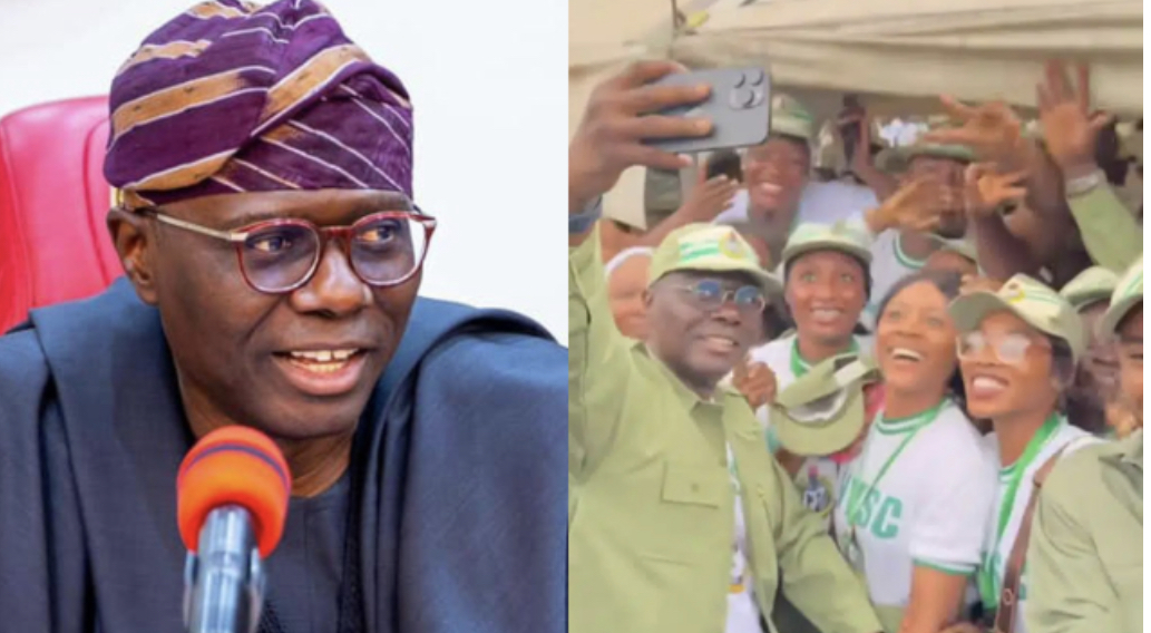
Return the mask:
POLYGON ((643 145, 640 139, 695 136, 708 123, 646 113, 689 104, 707 87, 654 87, 646 84, 683 67, 640 62, 601 84, 569 147, 569 472, 594 468, 608 450, 619 421, 632 373, 630 343, 619 334, 608 305, 600 236, 594 219, 601 197, 624 169, 678 168, 685 159, 643 145))

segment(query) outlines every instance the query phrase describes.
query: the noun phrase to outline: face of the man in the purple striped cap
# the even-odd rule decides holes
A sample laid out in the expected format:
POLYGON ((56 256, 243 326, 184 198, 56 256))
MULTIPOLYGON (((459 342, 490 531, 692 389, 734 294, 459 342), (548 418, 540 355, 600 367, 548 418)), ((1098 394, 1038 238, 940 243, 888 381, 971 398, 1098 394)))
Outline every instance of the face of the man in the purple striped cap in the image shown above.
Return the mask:
MULTIPOLYGON (((161 212, 235 230, 269 218, 348 226, 410 208, 397 193, 326 190, 212 196, 161 212)), ((154 220, 143 226, 139 261, 151 281, 134 281, 160 310, 190 417, 244 424, 288 441, 355 428, 420 284, 417 274, 397 287, 369 287, 350 268, 343 245, 330 241, 308 283, 267 295, 244 281, 231 244, 154 220), (343 361, 342 353, 330 360, 322 353, 337 350, 355 353, 343 361)))

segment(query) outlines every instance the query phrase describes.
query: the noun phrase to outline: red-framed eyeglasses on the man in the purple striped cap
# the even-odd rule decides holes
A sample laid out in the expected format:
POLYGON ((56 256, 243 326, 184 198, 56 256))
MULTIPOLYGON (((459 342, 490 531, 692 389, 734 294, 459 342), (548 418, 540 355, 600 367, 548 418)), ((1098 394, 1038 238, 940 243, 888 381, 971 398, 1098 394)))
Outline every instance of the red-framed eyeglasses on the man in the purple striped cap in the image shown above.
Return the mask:
POLYGON ((328 239, 343 244, 352 272, 375 288, 410 280, 427 254, 435 219, 407 211, 373 213, 348 227, 317 227, 306 220, 257 222, 234 231, 221 231, 161 213, 157 207, 142 215, 207 237, 229 242, 236 249, 244 281, 259 292, 291 292, 315 275, 328 239))

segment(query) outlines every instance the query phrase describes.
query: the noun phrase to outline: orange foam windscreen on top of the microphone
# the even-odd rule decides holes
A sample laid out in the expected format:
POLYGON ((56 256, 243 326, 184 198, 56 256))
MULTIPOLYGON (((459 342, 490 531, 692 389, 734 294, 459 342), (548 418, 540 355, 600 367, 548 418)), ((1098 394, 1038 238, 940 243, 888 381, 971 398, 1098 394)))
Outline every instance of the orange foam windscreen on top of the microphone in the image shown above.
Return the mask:
POLYGON ((184 547, 198 548, 200 528, 212 510, 239 505, 252 516, 252 531, 267 558, 280 542, 291 495, 283 453, 267 435, 228 426, 192 447, 176 476, 176 520, 184 547))

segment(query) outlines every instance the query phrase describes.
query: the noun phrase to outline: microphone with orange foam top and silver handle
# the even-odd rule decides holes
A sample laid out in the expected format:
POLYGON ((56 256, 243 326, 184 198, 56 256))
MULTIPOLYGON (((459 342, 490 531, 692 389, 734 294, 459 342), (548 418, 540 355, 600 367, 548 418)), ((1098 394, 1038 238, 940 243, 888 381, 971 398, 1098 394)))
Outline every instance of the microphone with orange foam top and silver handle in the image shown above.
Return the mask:
POLYGON ((188 548, 189 633, 254 633, 266 559, 280 542, 291 475, 262 433, 229 426, 205 435, 180 465, 176 519, 188 548))

